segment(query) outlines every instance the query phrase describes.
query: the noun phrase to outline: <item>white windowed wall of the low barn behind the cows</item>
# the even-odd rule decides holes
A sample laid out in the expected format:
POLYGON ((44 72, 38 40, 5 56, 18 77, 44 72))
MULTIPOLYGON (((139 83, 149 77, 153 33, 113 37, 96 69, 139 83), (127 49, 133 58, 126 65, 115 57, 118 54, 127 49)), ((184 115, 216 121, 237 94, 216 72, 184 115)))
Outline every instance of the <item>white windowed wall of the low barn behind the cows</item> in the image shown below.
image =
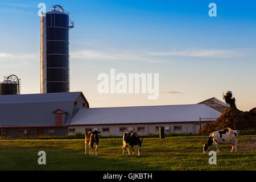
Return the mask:
MULTIPOLYGON (((209 122, 201 123, 201 127, 206 125, 209 122)), ((123 132, 119 131, 119 127, 127 127, 127 130, 129 130, 129 127, 134 127, 134 131, 138 133, 138 135, 149 135, 149 134, 159 134, 159 131, 155 131, 156 126, 162 126, 170 127, 170 131, 164 131, 164 133, 196 133, 196 126, 199 125, 199 122, 183 122, 183 123, 157 123, 157 124, 149 124, 149 123, 143 123, 143 124, 133 124, 133 125, 82 125, 82 126, 68 126, 68 129, 75 129, 75 133, 81 132, 85 133, 85 128, 91 128, 92 130, 97 129, 98 131, 101 131, 100 135, 102 136, 122 136, 123 132), (174 126, 182 126, 182 130, 175 130, 174 126), (102 128, 109 127, 109 132, 102 132, 102 128), (145 127, 144 131, 137 131, 137 127, 145 127)), ((197 127, 199 128, 199 127, 197 127)), ((69 135, 73 135, 74 133, 68 133, 69 135)))

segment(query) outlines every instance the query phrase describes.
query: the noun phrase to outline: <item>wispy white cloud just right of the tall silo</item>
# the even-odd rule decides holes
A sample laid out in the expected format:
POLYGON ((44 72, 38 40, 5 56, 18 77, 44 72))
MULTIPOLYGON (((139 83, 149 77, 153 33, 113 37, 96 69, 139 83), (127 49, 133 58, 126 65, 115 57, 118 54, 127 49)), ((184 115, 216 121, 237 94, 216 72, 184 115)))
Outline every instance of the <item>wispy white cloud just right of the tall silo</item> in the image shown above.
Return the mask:
POLYGON ((147 63, 164 63, 163 60, 153 59, 150 56, 138 53, 108 53, 101 51, 82 50, 71 53, 72 58, 84 60, 131 60, 144 61, 147 63))

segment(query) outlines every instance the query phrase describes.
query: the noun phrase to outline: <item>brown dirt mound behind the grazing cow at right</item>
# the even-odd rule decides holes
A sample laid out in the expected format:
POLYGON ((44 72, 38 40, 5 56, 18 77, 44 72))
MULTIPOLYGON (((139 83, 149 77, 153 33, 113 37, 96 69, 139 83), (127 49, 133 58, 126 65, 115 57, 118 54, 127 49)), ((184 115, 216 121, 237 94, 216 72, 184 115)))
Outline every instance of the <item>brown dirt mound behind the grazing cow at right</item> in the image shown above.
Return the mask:
MULTIPOLYGON (((202 134, 209 134, 226 127, 240 131, 256 130, 256 107, 248 111, 228 108, 214 122, 208 123, 201 129, 202 134)), ((197 131, 200 134, 200 130, 197 131)))

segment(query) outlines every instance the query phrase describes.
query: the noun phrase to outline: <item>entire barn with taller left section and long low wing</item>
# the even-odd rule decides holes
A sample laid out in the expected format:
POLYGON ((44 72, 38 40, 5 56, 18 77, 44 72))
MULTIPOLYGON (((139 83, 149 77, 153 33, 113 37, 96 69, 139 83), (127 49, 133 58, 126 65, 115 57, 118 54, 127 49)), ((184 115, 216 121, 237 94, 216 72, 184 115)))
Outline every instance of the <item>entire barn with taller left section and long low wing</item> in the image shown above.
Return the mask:
POLYGON ((196 133, 228 106, 213 97, 199 104, 90 108, 81 92, 0 96, 3 137, 65 136, 97 129, 104 136, 196 133))

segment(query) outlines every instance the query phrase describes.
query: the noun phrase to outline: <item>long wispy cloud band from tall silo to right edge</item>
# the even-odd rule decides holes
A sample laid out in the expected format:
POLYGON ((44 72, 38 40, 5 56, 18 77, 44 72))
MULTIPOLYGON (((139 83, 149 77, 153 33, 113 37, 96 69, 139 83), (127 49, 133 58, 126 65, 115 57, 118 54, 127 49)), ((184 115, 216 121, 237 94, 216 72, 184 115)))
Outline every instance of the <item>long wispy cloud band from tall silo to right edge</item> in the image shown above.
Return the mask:
MULTIPOLYGON (((166 63, 174 57, 214 57, 214 58, 237 58, 245 57, 255 49, 184 49, 182 51, 150 52, 150 51, 115 51, 104 52, 91 49, 75 51, 72 58, 83 60, 129 60, 143 61, 146 63, 166 63)), ((177 59, 177 58, 175 58, 177 59)))

